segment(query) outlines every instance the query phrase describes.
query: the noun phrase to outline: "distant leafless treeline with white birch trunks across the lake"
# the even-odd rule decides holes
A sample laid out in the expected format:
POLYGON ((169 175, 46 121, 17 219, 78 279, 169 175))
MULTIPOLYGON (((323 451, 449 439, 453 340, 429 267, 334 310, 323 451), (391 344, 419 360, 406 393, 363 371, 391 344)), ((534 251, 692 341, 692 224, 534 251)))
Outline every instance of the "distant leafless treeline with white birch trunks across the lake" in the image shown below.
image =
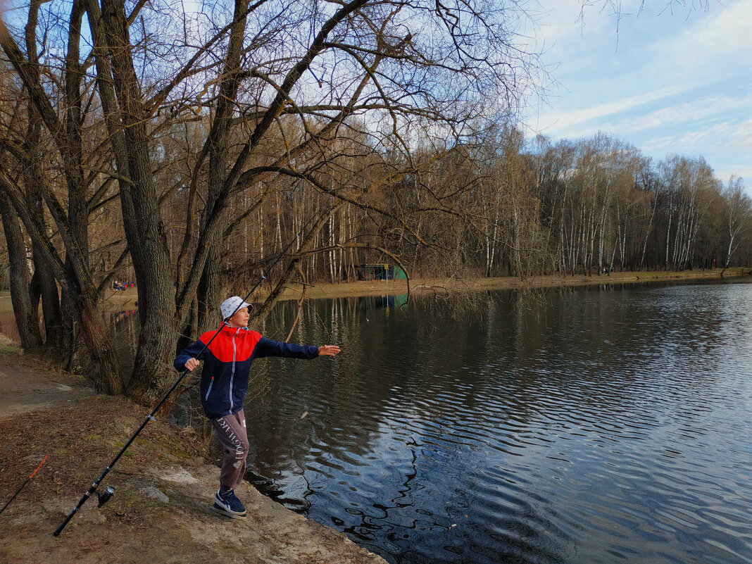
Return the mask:
MULTIPOLYGON (((378 213, 361 201, 329 215, 319 252, 301 265, 309 281, 353 280, 356 265, 396 260, 423 276, 752 264, 750 198, 738 177, 724 183, 702 158, 654 162, 610 135, 552 144, 505 128, 441 153, 417 150, 409 163, 376 160, 404 172, 369 195, 378 213)), ((334 182, 323 172, 319 179, 334 182)), ((226 238, 233 279, 251 257, 284 247, 328 201, 290 180, 275 193, 256 221, 226 238)))

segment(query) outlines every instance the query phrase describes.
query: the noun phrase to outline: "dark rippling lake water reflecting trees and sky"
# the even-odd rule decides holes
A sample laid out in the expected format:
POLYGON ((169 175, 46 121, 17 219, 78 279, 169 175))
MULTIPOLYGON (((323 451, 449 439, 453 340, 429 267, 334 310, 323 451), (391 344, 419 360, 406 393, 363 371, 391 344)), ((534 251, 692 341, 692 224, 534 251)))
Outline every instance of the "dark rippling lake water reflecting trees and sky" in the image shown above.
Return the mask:
POLYGON ((310 302, 341 355, 254 365, 267 495, 399 564, 752 562, 752 284, 401 301, 310 302))

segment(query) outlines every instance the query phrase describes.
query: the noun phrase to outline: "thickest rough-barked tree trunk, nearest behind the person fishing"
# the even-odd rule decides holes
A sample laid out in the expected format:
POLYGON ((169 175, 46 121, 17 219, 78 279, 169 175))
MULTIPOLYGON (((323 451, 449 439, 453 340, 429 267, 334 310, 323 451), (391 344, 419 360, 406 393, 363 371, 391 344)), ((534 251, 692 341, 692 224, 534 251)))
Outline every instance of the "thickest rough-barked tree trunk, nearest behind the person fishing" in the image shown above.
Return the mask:
POLYGON ((153 186, 147 111, 133 65, 125 6, 120 0, 103 0, 100 13, 96 0, 90 0, 88 11, 117 168, 129 179, 120 182, 120 200, 128 218, 124 228, 138 281, 141 327, 128 394, 150 402, 172 380, 174 273, 153 186))

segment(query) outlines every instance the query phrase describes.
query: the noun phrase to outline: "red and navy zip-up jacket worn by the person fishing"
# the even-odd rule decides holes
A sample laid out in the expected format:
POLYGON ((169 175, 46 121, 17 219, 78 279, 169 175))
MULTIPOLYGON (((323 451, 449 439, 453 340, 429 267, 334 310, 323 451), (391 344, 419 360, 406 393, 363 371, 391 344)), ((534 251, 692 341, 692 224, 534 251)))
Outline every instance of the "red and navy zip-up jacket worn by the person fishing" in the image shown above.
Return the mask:
POLYGON ((318 347, 272 341, 256 331, 226 325, 220 328, 220 334, 202 353, 214 333, 216 331, 205 332, 198 341, 183 349, 173 362, 175 370, 182 372, 188 359, 204 361, 199 390, 204 413, 211 419, 235 414, 243 408, 253 359, 264 356, 313 359, 319 354, 318 347))

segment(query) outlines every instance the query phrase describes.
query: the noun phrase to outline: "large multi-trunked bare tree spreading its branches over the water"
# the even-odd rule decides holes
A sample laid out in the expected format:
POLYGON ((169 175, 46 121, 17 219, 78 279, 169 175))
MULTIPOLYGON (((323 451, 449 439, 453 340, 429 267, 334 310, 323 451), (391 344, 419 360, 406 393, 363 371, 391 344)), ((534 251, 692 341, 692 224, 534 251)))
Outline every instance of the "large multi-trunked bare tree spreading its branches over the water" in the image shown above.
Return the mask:
MULTIPOLYGON (((473 120, 514 112, 520 85, 535 72, 534 57, 514 44, 508 8, 493 2, 238 0, 202 14, 159 2, 74 0, 69 14, 59 9, 35 0, 21 22, 26 51, 15 31, 3 35, 2 46, 55 150, 55 166, 43 171, 35 190, 55 221, 64 261, 21 190, 12 183, 3 188, 64 296, 74 300, 98 387, 111 393, 122 390, 123 379, 102 326, 99 291, 132 259, 141 328, 129 393, 142 400, 171 379, 174 335, 191 311, 193 327, 209 323, 226 282, 220 274, 226 271, 223 238, 232 235, 227 230, 253 217, 282 179, 331 200, 311 200, 311 221, 292 215, 311 248, 328 249, 322 253, 338 256, 335 217, 328 214, 347 207, 418 240, 410 222, 378 204, 377 193, 414 171, 411 153, 420 138, 443 140, 449 150, 473 120), (53 27, 45 41, 57 41, 44 57, 32 49, 40 10, 53 27), (84 18, 92 47, 81 36, 84 18), (157 184, 166 180, 162 165, 177 169, 160 153, 159 135, 192 121, 205 128, 205 141, 186 144, 190 166, 180 178, 157 184), (84 128, 102 135, 96 146, 84 128), (397 153, 400 159, 390 156, 397 153), (366 183, 348 173, 362 168, 355 164, 361 158, 372 160, 366 183), (50 177, 55 170, 65 181, 62 193, 50 177), (234 208, 259 186, 265 188, 245 209, 234 208), (89 244, 89 213, 114 198, 126 244, 99 272, 92 265, 99 250, 89 244), (173 225, 177 202, 185 206, 186 223, 175 268, 165 213, 173 225)), ((33 164, 17 150, 16 133, 6 139, 7 153, 24 167, 33 164)), ((428 204, 414 213, 450 212, 429 192, 426 197, 428 204)), ((319 255, 310 250, 300 252, 319 255)), ((295 271, 287 268, 284 277, 295 271)))

